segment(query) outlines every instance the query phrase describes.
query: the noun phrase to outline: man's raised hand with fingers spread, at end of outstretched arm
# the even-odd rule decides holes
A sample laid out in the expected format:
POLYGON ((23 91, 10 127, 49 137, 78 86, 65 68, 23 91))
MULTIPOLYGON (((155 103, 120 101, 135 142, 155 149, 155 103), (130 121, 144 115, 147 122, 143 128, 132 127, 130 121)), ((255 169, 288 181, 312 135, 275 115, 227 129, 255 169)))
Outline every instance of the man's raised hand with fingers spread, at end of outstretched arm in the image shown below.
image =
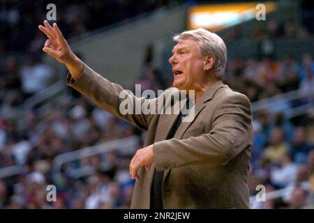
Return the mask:
POLYGON ((43 47, 43 52, 65 64, 73 78, 78 79, 82 71, 83 62, 72 52, 57 24, 54 23, 53 26, 50 26, 47 20, 45 20, 44 26, 39 25, 38 29, 45 33, 48 38, 43 47))

